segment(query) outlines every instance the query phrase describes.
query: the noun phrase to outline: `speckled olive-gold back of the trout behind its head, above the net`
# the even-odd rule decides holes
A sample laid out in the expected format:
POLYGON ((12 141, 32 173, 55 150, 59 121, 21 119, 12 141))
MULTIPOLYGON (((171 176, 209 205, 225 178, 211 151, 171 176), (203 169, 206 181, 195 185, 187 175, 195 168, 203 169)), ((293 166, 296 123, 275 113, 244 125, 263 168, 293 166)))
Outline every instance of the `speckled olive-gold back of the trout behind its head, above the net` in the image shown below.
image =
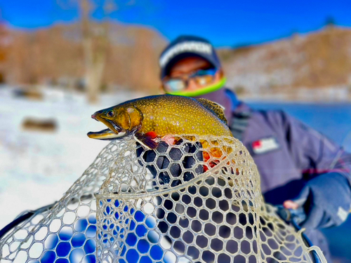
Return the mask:
MULTIPOLYGON (((204 99, 202 99, 204 100, 204 99)), ((167 134, 198 134, 232 136, 223 110, 210 101, 199 101, 190 97, 158 95, 126 102, 143 114, 140 133, 154 131, 159 136, 167 134)), ((218 105, 218 104, 217 104, 218 105)), ((127 105, 126 105, 127 106, 127 105)))

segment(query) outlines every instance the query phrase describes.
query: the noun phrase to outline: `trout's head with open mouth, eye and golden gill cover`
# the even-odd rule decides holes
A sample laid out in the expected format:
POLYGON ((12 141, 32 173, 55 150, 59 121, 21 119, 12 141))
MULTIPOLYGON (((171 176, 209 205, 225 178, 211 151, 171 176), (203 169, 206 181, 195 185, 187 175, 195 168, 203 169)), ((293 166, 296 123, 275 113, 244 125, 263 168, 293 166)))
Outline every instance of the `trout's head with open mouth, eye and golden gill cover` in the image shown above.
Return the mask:
POLYGON ((142 126, 143 114, 136 107, 117 105, 101 109, 91 115, 91 118, 104 123, 107 129, 90 132, 88 137, 99 140, 114 140, 137 132, 142 126))

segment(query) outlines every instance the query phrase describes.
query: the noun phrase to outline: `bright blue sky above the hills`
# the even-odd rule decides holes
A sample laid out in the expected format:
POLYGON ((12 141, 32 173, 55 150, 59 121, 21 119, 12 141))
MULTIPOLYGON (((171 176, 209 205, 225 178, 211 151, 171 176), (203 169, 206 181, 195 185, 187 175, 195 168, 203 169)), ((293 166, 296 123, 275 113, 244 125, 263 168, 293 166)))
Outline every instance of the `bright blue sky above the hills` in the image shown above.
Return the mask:
MULTIPOLYGON (((79 0, 0 0, 2 20, 13 27, 35 29, 57 22, 79 21, 79 0), (29 4, 30 3, 30 4, 29 4)), ((93 0, 92 17, 102 19, 102 3, 93 0)), ((309 32, 333 17, 351 26, 351 1, 324 0, 109 0, 117 4, 115 21, 157 29, 166 39, 196 34, 214 46, 239 46, 309 32)))

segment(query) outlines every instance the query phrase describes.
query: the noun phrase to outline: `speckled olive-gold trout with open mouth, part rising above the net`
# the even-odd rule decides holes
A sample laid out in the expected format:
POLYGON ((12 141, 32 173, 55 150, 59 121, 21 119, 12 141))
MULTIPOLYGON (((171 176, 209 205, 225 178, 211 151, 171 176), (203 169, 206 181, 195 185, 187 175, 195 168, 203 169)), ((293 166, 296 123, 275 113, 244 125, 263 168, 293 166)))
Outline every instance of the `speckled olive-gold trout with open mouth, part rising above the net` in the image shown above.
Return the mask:
POLYGON ((232 137, 224 108, 204 98, 152 95, 128 100, 92 116, 107 126, 88 137, 118 140, 134 137, 147 149, 156 149, 168 135, 213 135, 232 137))

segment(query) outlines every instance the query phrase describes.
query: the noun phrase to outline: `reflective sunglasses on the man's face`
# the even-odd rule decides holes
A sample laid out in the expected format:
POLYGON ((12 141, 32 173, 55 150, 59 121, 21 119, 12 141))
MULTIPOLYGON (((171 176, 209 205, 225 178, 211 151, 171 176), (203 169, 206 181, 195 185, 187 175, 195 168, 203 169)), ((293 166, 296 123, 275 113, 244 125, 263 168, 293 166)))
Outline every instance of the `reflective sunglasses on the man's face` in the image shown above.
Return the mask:
POLYGON ((164 90, 168 93, 185 90, 189 84, 190 79, 197 83, 197 86, 203 87, 213 83, 217 69, 199 69, 196 72, 178 76, 176 78, 167 77, 162 81, 164 90))

